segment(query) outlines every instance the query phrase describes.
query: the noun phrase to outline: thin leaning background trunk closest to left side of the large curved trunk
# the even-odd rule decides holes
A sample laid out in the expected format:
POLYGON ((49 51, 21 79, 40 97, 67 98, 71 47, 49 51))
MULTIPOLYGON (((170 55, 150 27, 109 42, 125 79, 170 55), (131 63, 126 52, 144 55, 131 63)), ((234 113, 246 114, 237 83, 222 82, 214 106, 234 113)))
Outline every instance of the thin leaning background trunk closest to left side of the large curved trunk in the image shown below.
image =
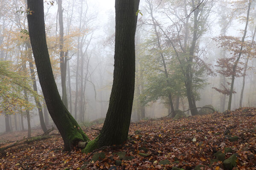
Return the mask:
MULTIPOLYGON (((28 58, 29 58, 29 70, 30 70, 30 76, 31 76, 31 79, 32 79, 32 82, 33 82, 33 90, 38 93, 37 91, 37 85, 36 85, 36 80, 35 80, 35 71, 34 71, 34 65, 32 63, 32 50, 31 49, 31 45, 29 42, 26 43, 27 45, 27 48, 29 50, 29 53, 28 53, 28 58)), ((40 120, 40 125, 41 125, 41 128, 42 130, 44 131, 44 133, 47 131, 47 127, 44 123, 44 114, 43 114, 43 111, 42 111, 42 105, 38 99, 38 96, 34 96, 34 99, 35 99, 35 105, 38 109, 38 114, 39 114, 39 120, 40 120)))

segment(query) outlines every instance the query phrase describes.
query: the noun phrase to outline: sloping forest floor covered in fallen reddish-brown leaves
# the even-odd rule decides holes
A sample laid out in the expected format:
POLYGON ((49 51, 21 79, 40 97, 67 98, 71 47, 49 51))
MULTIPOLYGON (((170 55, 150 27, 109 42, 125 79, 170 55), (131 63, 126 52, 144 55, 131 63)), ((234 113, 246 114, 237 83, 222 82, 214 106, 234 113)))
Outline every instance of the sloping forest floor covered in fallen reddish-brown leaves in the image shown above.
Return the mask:
MULTIPOLYGON (((92 127, 100 129, 102 124, 92 127)), ((83 129, 91 139, 99 132, 91 127, 83 129)), ((0 147, 8 141, 24 139, 26 133, 2 134, 0 147)), ((32 135, 41 133, 41 130, 33 130, 32 135)), ((82 153, 80 149, 63 153, 63 142, 58 131, 54 130, 50 135, 50 139, 24 143, 0 152, 0 169, 222 170, 223 163, 215 157, 219 151, 224 155, 223 160, 235 153, 238 158, 237 169, 256 170, 256 108, 241 108, 228 114, 212 113, 179 120, 141 120, 131 123, 129 139, 121 147, 106 147, 93 154, 82 153), (225 132, 231 135, 224 136, 225 132), (227 139, 229 137, 237 141, 230 142, 227 139), (227 151, 227 148, 231 150, 227 151), (97 160, 98 155, 103 159, 97 160)))

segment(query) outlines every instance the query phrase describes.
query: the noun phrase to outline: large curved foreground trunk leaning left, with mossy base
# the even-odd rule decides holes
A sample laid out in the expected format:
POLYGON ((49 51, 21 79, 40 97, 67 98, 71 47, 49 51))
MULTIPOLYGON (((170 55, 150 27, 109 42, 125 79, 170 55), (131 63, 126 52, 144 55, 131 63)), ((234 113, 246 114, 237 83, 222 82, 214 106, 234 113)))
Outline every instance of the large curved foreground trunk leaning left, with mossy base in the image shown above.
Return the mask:
POLYGON ((65 108, 53 77, 45 35, 44 0, 28 0, 27 4, 28 9, 33 11, 32 15, 28 15, 29 37, 44 99, 64 141, 64 150, 71 150, 75 142, 89 139, 65 108))

